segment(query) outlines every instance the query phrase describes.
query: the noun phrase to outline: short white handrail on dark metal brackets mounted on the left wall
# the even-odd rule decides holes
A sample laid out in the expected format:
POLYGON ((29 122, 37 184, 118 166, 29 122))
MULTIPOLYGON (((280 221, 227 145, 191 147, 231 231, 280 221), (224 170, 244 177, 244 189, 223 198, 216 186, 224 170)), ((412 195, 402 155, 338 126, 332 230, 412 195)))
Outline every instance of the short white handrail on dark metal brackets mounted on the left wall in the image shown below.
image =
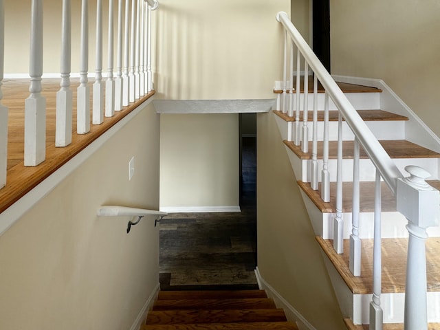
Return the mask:
POLYGON ((130 232, 132 225, 137 225, 143 217, 155 216, 154 226, 157 225, 164 216, 166 212, 148 210, 144 208, 129 208, 127 206, 117 206, 117 205, 103 205, 98 208, 96 214, 100 217, 137 217, 137 221, 129 221, 126 225, 126 233, 130 232))

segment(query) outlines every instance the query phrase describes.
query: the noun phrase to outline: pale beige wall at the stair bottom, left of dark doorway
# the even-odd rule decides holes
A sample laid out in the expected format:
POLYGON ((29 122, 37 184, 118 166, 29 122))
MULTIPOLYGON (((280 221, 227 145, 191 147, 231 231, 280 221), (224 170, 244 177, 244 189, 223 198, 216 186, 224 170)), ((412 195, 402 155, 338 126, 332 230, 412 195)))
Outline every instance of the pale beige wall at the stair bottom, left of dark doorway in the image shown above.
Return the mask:
POLYGON ((239 115, 167 114, 160 122, 160 206, 239 206, 239 115))

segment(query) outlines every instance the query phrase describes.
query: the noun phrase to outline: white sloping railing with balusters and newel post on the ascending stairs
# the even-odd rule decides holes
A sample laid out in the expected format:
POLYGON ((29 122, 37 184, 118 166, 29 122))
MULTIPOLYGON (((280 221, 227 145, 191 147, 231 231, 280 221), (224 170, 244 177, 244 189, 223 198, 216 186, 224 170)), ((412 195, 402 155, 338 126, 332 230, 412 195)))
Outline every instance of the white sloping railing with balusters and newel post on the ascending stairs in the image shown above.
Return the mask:
POLYGON ((397 197, 397 210, 408 219, 408 262, 406 276, 406 303, 405 303, 405 329, 427 329, 426 309, 426 256, 425 239, 426 228, 438 225, 439 221, 439 191, 429 186, 425 179, 430 174, 416 166, 406 166, 410 177, 404 177, 391 157, 386 153, 375 135, 364 123, 353 105, 342 93, 340 87, 330 76, 327 69, 320 63, 317 56, 305 42, 298 30, 294 27, 285 12, 278 12, 276 16, 285 28, 285 51, 283 62, 283 82, 281 83, 282 94, 278 98, 278 107, 283 113, 295 117, 295 122, 290 124, 288 134, 289 141, 301 146, 304 153, 308 152, 309 123, 307 122, 308 104, 308 81, 309 72, 314 76, 313 96, 313 123, 311 129, 312 159, 307 175, 311 187, 318 190, 318 181, 321 181, 321 197, 324 201, 330 200, 329 182, 329 102, 333 102, 339 111, 338 120, 338 166, 336 170, 336 215, 333 219, 333 246, 338 253, 343 252, 343 216, 342 216, 342 120, 355 136, 354 161, 353 161, 353 210, 352 210, 352 233, 350 236, 350 270, 354 276, 360 276, 361 265, 361 240, 359 237, 359 205, 360 205, 360 175, 359 153, 362 147, 369 159, 375 166, 375 230, 373 248, 373 298, 370 308, 370 329, 382 329, 381 296, 381 181, 385 181, 393 195, 397 197), (296 61, 294 61, 296 56, 296 61), (296 67, 294 67, 296 63, 296 67), (304 63, 303 70, 300 63, 304 63), (303 72, 303 74, 301 74, 303 72), (294 87, 294 74, 296 85, 294 87), (300 76, 303 76, 301 79, 300 76), (300 93, 301 80, 303 80, 303 94, 300 93), (325 123, 323 129, 323 161, 321 170, 317 162, 318 142, 318 83, 325 89, 325 123), (300 98, 303 102, 300 102, 300 98), (301 115, 302 113, 302 115, 301 115), (302 121, 301 121, 302 120, 302 121))

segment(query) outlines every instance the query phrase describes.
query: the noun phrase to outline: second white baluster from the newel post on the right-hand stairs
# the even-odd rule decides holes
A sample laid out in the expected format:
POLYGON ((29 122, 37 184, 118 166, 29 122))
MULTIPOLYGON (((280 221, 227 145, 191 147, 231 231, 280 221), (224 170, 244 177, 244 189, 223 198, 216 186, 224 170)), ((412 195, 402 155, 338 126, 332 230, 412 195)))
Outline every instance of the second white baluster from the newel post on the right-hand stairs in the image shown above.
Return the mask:
POLYGON ((359 140, 355 137, 353 152, 353 210, 351 212, 350 235, 350 271, 354 276, 360 276, 361 241, 359 238, 359 210, 360 210, 360 181, 359 181, 359 140))

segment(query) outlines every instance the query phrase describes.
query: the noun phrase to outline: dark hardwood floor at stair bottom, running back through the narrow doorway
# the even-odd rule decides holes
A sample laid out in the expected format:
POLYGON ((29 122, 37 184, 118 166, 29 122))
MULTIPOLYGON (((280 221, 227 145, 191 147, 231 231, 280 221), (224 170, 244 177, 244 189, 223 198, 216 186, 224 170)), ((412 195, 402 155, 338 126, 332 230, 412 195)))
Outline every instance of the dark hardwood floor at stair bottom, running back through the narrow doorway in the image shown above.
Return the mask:
POLYGON ((257 289, 256 138, 243 138, 241 212, 174 213, 160 222, 162 290, 257 289))

